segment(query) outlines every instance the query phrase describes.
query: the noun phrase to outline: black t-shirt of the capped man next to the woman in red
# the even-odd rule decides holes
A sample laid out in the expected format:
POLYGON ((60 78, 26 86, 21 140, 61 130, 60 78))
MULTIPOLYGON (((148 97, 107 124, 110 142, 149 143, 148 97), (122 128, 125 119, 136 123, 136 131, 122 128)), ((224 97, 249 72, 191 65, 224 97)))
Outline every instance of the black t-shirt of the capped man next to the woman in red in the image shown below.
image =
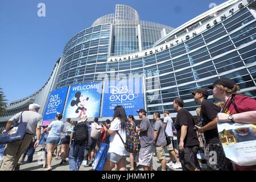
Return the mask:
MULTIPOLYGON (((221 108, 214 105, 212 102, 208 100, 203 100, 201 104, 201 118, 203 126, 207 125, 210 121, 216 118, 217 114, 221 111, 221 108)), ((218 129, 215 128, 213 130, 207 130, 203 133, 205 136, 205 141, 207 144, 209 143, 219 143, 219 134, 218 129)))

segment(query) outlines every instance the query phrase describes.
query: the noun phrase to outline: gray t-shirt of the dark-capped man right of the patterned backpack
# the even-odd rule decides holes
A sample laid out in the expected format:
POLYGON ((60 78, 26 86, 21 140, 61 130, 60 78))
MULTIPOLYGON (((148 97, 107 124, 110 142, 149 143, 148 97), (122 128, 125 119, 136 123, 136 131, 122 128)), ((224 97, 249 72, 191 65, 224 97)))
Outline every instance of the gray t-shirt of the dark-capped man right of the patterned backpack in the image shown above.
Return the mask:
POLYGON ((141 130, 146 130, 146 131, 140 131, 139 132, 139 140, 141 142, 141 148, 145 148, 147 146, 150 146, 154 143, 153 140, 153 129, 150 124, 149 118, 145 117, 141 121, 141 130))

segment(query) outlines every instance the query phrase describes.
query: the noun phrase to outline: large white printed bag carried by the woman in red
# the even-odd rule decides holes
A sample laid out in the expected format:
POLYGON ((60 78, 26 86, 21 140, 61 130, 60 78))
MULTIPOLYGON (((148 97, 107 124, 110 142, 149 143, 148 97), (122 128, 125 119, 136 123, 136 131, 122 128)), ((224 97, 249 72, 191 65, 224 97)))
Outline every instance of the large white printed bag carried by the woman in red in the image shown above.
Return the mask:
POLYGON ((219 138, 226 158, 239 166, 256 164, 256 126, 236 122, 218 122, 219 138))

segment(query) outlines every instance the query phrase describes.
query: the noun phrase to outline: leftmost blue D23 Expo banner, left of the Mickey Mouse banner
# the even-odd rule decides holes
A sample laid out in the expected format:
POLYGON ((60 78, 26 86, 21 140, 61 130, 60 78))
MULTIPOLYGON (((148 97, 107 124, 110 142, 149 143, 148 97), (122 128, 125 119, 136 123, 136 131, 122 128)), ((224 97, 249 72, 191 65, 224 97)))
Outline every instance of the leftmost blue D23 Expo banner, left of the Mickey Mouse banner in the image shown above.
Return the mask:
POLYGON ((54 119, 56 113, 62 113, 67 95, 67 86, 50 92, 49 98, 43 114, 43 121, 54 119))

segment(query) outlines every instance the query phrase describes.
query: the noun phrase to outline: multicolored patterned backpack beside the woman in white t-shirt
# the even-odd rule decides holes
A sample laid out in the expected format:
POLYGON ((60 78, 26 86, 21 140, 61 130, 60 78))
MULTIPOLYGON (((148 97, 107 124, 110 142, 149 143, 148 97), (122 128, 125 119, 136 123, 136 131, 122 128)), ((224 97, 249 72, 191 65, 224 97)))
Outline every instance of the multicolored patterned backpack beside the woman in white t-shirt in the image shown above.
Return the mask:
MULTIPOLYGON (((117 134, 123 142, 123 139, 118 131, 117 134)), ((126 142, 123 142, 125 150, 129 153, 139 152, 139 149, 141 149, 141 142, 139 141, 139 133, 136 130, 136 127, 132 126, 130 123, 127 123, 125 126, 125 136, 126 142)))

